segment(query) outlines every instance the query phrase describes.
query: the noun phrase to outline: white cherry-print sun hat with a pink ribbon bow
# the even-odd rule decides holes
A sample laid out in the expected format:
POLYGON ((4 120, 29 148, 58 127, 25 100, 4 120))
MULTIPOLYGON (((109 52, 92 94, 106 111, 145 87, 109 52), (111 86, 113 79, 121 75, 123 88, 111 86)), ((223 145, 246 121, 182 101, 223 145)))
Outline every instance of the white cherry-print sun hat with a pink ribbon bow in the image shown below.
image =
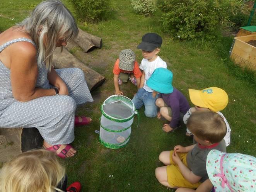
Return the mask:
POLYGON ((206 170, 215 192, 256 192, 256 158, 211 150, 206 170))

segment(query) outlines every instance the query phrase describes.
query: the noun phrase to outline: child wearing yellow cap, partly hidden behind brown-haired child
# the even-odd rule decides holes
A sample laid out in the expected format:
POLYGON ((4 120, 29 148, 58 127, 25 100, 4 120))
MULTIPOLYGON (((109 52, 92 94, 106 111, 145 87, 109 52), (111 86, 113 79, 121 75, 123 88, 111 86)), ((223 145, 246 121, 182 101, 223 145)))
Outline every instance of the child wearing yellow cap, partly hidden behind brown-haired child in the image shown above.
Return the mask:
MULTIPOLYGON (((229 97, 227 93, 218 87, 208 87, 203 90, 195 90, 195 89, 188 89, 189 97, 191 102, 195 105, 195 107, 191 107, 188 112, 184 115, 183 121, 184 124, 187 124, 189 117, 195 111, 213 111, 218 113, 225 121, 227 126, 227 133, 224 137, 226 146, 230 144, 230 134, 231 129, 227 119, 224 115, 220 112, 220 110, 225 109, 229 102, 229 97)), ((192 135, 192 133, 187 128, 187 136, 192 135)))

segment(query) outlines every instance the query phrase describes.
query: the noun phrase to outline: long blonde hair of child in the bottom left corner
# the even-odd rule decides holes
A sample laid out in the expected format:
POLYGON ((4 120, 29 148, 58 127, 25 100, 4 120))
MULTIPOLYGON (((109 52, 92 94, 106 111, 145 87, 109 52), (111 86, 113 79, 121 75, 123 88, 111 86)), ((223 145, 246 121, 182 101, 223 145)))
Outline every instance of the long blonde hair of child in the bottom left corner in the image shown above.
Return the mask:
POLYGON ((55 192, 62 182, 65 168, 55 153, 27 151, 6 163, 0 172, 0 192, 55 192))

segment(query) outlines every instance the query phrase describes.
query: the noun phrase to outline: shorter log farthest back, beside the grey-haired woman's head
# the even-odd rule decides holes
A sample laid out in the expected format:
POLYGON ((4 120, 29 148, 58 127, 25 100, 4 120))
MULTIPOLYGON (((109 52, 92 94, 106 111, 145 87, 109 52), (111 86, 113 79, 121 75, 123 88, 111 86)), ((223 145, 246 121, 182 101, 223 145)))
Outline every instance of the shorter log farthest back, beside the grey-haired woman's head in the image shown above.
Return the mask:
POLYGON ((102 47, 102 39, 100 37, 89 34, 82 29, 79 29, 79 34, 73 41, 83 49, 84 53, 87 53, 93 47, 102 47))

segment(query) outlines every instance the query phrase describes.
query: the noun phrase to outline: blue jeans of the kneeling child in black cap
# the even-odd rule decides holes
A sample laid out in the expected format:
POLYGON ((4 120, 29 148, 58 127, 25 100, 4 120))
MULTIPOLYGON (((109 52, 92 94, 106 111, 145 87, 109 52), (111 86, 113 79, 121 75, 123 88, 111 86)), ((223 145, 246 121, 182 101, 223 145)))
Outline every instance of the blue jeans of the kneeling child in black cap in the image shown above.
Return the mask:
POLYGON ((143 88, 140 88, 137 94, 133 97, 132 101, 136 109, 140 109, 145 105, 145 116, 155 117, 157 116, 157 106, 155 105, 155 100, 158 98, 158 94, 155 98, 152 97, 152 92, 148 92, 143 88))

